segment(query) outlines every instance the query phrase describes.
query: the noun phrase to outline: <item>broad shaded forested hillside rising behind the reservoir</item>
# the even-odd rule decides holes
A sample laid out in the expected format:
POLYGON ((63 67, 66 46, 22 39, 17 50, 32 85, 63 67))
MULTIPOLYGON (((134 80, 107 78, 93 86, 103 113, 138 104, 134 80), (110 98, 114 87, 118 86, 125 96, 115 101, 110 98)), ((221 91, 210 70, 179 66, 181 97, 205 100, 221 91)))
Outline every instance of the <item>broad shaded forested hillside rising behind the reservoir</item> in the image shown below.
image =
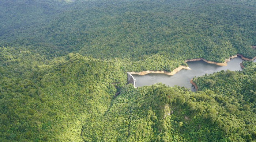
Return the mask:
POLYGON ((75 1, 49 23, 22 27, 1 39, 2 46, 29 46, 49 56, 79 52, 144 64, 160 54, 177 65, 192 58, 224 62, 237 53, 256 56, 251 49, 255 13, 238 2, 75 1))

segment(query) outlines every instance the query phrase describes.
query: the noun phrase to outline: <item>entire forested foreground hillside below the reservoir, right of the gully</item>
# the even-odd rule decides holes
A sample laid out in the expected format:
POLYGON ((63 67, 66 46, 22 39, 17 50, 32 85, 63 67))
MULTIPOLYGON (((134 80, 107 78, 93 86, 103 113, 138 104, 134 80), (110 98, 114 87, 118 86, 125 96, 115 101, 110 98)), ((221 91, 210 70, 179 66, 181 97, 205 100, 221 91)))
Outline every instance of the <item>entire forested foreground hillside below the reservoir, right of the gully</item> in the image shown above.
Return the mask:
POLYGON ((256 64, 199 77, 202 91, 158 83, 125 86, 105 115, 87 121, 84 141, 256 140, 256 64))

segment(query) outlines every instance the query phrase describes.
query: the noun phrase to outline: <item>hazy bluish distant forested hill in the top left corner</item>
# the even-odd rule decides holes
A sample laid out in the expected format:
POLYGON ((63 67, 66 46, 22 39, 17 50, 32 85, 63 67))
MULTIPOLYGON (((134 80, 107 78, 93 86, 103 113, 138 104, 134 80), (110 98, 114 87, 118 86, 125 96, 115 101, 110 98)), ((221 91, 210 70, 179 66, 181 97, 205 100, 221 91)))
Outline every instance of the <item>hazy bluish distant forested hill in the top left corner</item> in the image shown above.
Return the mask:
POLYGON ((14 29, 49 22, 66 11, 71 0, 1 0, 0 35, 14 29))

